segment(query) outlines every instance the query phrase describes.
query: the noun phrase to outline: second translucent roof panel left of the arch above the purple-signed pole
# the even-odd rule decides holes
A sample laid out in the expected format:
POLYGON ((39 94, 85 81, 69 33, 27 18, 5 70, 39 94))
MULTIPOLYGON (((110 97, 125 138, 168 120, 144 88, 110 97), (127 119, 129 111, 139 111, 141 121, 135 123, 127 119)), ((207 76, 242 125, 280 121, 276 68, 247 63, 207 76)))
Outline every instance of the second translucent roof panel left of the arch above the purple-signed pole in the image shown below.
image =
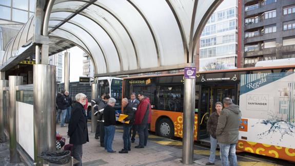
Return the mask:
POLYGON ((129 30, 134 42, 141 68, 160 66, 158 54, 149 27, 139 12, 127 1, 99 1, 100 5, 113 13, 129 30), (159 64, 158 64, 159 63, 159 64))

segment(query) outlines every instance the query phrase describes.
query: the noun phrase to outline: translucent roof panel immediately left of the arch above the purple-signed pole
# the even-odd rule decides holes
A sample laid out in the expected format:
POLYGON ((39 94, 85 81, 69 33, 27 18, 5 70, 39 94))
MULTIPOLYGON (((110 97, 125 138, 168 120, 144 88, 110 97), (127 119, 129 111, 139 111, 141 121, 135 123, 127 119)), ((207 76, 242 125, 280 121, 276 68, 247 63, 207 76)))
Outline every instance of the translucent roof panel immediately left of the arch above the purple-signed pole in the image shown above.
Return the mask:
POLYGON ((184 63, 180 29, 168 4, 163 0, 132 1, 146 17, 160 51, 161 65, 184 63), (167 28, 169 27, 169 28, 167 28))

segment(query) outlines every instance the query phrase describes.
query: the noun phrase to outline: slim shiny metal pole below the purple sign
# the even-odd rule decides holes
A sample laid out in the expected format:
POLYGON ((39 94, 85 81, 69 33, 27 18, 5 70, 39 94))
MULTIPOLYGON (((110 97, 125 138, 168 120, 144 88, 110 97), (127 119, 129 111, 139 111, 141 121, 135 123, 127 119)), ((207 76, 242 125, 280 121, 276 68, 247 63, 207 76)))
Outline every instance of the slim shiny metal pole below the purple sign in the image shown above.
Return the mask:
POLYGON ((183 112, 183 149, 184 164, 193 162, 194 103, 195 79, 184 81, 184 112, 183 112))

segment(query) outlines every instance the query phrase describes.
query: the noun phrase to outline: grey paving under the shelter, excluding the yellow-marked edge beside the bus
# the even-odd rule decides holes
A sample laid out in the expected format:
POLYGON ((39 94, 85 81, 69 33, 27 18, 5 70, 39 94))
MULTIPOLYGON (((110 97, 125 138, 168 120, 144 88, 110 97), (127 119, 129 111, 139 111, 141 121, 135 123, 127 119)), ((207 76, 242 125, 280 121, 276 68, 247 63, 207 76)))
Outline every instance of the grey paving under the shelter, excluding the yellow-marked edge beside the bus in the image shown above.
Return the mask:
MULTIPOLYGON (((60 127, 57 125, 56 131, 66 136, 68 127, 60 127)), ((156 143, 164 138, 149 135, 149 141, 144 149, 135 149, 138 144, 138 137, 135 142, 131 143, 131 151, 128 154, 113 153, 108 154, 104 151, 104 147, 100 146, 100 140, 94 139, 94 134, 90 133, 91 127, 88 124, 89 142, 83 145, 83 165, 183 165, 181 163, 182 150, 156 143), (160 140, 159 140, 160 138, 160 140), (155 139, 156 141, 153 141, 155 139)), ((123 148, 123 128, 116 126, 115 137, 113 141, 113 149, 120 151, 123 148)), ((68 144, 69 138, 66 138, 68 144)), ((204 158, 202 155, 194 155, 194 159, 204 158)), ((208 157, 205 162, 208 161, 208 157)), ((200 164, 194 164, 200 165, 200 164)), ((202 164, 204 165, 204 164, 202 164)))

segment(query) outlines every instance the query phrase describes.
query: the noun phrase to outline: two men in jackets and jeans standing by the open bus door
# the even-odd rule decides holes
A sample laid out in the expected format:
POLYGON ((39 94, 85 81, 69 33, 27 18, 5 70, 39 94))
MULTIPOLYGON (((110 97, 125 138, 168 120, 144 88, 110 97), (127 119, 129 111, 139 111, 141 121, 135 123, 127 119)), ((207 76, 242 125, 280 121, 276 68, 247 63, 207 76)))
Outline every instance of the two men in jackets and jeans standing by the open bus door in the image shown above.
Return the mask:
POLYGON ((220 147, 220 158, 222 166, 238 165, 235 155, 235 145, 239 140, 239 126, 241 111, 238 105, 232 103, 231 98, 224 98, 221 102, 215 103, 216 112, 212 113, 207 121, 207 130, 210 134, 210 157, 206 165, 213 165, 215 162, 215 151, 217 144, 220 147), (224 108, 223 108, 224 106, 224 108))

